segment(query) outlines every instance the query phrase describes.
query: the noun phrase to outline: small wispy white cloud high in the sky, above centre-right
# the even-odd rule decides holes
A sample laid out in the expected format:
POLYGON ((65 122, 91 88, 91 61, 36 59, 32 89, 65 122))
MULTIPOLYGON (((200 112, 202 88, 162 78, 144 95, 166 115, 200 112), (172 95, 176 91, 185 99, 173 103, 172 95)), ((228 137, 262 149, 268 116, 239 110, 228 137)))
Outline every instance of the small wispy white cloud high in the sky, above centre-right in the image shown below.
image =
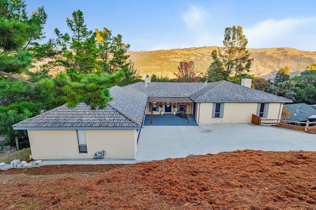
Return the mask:
POLYGON ((194 30, 199 27, 207 13, 197 6, 190 5, 189 9, 182 13, 182 19, 186 24, 187 29, 194 30))

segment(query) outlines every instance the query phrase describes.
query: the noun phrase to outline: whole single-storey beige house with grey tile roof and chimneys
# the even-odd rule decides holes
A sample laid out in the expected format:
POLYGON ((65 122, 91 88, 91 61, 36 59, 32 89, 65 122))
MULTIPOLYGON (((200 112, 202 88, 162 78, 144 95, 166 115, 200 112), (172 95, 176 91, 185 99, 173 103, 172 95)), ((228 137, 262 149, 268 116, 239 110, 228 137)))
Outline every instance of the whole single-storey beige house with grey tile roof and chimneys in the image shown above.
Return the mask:
MULTIPOLYGON (((197 123, 250 123, 252 114, 280 119, 283 103, 292 101, 228 81, 212 83, 138 82, 110 88, 113 101, 103 110, 65 105, 13 125, 28 130, 34 159, 135 159, 137 139, 146 114, 193 114, 197 123)), ((190 119, 190 118, 189 118, 190 119)))

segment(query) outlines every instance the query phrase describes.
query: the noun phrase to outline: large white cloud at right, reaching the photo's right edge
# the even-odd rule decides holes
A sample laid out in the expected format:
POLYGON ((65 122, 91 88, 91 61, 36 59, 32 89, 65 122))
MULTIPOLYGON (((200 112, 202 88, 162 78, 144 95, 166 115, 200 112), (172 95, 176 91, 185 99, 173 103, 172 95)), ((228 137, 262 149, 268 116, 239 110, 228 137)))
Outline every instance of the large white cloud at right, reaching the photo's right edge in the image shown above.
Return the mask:
POLYGON ((257 23, 251 28, 244 29, 244 35, 248 39, 249 48, 262 47, 293 47, 304 50, 316 38, 316 17, 286 18, 283 20, 266 20, 257 23))

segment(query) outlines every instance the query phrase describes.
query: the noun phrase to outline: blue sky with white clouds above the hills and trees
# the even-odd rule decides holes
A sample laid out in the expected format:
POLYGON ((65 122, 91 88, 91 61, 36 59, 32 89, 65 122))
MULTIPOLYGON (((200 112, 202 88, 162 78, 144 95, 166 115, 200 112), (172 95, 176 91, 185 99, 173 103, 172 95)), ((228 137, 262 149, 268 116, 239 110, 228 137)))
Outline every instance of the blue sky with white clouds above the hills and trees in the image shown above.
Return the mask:
POLYGON ((241 26, 247 48, 316 51, 316 0, 25 0, 44 6, 47 38, 69 32, 66 17, 83 12, 90 30, 106 27, 132 51, 223 46, 226 27, 241 26))

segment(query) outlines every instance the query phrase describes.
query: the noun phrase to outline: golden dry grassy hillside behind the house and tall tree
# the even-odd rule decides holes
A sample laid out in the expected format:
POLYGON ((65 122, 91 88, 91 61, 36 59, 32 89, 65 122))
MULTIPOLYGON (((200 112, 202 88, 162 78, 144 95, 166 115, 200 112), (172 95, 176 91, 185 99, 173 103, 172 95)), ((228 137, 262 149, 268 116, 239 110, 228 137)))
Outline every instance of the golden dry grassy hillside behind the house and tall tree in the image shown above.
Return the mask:
MULTIPOLYGON (((158 76, 174 78, 174 72, 180 61, 194 61, 198 71, 205 72, 211 63, 211 52, 216 47, 192 47, 184 49, 129 51, 130 59, 135 62, 135 68, 142 77, 153 73, 158 76)), ((297 75, 316 62, 316 52, 301 51, 293 48, 261 48, 248 49, 254 59, 250 74, 264 78, 274 78, 276 71, 288 66, 291 75, 297 75)))

